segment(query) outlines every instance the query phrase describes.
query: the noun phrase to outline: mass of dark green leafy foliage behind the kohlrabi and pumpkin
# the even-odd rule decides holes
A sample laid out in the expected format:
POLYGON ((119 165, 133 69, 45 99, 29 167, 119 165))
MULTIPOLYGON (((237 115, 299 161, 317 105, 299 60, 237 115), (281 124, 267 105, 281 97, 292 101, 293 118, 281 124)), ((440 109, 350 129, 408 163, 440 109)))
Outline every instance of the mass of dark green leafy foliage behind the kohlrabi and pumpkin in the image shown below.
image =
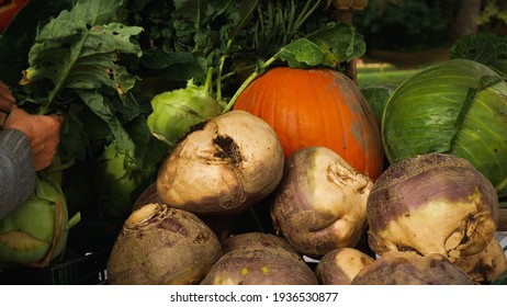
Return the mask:
MULTIPOLYGON (((319 11, 325 4, 32 0, 0 36, 0 54, 9 55, 0 61, 2 80, 27 111, 65 115, 58 154, 76 167, 64 172, 63 186, 72 209, 81 209, 97 197, 80 197, 82 184, 75 184, 72 174, 94 164, 113 143, 128 178, 143 179, 138 186, 155 179, 170 152, 147 125, 155 95, 184 88, 190 79, 201 87, 211 71, 210 96, 230 106, 244 77, 254 72, 255 78, 273 62, 340 69, 361 56, 362 35, 330 23, 319 11)), ((91 180, 93 171, 87 175, 91 180)))

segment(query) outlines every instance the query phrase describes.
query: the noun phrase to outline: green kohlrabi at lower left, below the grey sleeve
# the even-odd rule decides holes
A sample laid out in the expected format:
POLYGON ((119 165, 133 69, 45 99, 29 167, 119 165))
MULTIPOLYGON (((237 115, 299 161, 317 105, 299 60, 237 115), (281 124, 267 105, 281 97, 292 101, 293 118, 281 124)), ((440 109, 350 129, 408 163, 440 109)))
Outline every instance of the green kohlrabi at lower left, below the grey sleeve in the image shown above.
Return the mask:
POLYGON ((34 195, 0 220, 0 263, 45 266, 61 254, 68 230, 64 192, 56 181, 37 179, 34 195))

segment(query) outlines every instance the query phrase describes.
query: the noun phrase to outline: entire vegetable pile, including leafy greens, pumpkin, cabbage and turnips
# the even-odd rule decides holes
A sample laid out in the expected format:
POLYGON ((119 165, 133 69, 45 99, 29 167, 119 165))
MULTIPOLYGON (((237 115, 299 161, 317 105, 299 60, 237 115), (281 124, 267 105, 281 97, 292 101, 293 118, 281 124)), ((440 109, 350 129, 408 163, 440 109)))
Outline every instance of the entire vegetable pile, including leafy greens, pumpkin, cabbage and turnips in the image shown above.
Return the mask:
POLYGON ((122 224, 110 284, 506 274, 498 61, 453 58, 373 101, 348 75, 362 35, 316 13, 333 1, 70 2, 29 3, 19 18, 44 12, 41 30, 15 19, 0 36, 0 50, 15 41, 26 52, 0 62, 23 72, 4 80, 18 103, 66 117, 58 193, 37 189, 0 220, 0 262, 58 263, 81 216, 122 224))

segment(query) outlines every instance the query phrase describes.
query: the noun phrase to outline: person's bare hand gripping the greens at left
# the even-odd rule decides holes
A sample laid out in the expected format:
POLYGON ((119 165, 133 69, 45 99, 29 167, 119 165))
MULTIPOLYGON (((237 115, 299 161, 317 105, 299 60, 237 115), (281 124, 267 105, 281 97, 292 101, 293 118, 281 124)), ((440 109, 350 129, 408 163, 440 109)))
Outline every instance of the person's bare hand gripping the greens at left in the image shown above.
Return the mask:
POLYGON ((29 137, 35 171, 40 171, 50 164, 56 154, 63 123, 63 116, 29 114, 14 104, 3 128, 19 129, 29 137))

